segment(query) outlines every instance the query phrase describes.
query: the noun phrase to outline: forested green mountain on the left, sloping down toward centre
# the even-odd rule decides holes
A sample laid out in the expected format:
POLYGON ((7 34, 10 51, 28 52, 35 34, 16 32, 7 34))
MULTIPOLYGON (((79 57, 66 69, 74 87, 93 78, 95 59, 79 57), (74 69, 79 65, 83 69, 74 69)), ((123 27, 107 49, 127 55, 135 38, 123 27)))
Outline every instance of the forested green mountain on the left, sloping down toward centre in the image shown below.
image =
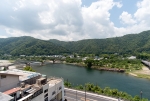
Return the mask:
POLYGON ((0 53, 11 55, 51 55, 69 51, 50 41, 35 39, 28 36, 0 39, 0 53))

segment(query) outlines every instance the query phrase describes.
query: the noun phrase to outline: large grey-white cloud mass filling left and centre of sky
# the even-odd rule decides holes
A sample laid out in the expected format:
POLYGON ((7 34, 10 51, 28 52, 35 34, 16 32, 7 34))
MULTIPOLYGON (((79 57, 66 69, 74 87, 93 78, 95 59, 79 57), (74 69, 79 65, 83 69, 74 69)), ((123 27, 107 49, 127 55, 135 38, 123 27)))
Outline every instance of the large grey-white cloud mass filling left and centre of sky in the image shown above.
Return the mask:
MULTIPOLYGON (((4 4, 7 5, 6 2, 4 4)), ((113 6, 121 7, 113 0, 99 0, 90 7, 82 7, 81 0, 9 0, 9 4, 9 8, 2 6, 9 13, 0 11, 3 18, 8 17, 7 20, 4 18, 5 21, 0 19, 0 22, 10 36, 59 40, 111 36, 108 33, 113 32, 114 25, 109 20, 109 10, 113 6)))

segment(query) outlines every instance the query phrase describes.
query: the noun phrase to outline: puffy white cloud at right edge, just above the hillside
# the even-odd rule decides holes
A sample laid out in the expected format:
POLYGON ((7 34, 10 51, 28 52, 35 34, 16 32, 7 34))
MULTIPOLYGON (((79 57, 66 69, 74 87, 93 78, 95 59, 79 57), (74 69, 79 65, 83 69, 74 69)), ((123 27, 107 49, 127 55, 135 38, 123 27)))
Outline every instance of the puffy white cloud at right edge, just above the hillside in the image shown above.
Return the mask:
POLYGON ((120 35, 139 33, 145 30, 150 30, 150 0, 142 0, 137 3, 138 9, 134 14, 123 12, 120 19, 127 27, 115 28, 115 33, 120 35))

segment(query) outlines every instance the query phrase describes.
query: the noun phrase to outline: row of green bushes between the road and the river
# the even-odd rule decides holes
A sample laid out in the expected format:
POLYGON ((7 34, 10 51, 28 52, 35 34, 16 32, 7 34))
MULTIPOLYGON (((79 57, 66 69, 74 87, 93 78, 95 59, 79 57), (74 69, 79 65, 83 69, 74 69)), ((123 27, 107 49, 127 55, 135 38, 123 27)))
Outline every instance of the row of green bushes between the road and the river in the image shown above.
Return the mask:
MULTIPOLYGON (((69 88, 72 87, 71 83, 68 81, 65 81, 64 85, 69 88)), ((86 91, 97 93, 100 95, 121 98, 127 101, 148 101, 148 99, 145 99, 145 98, 140 99, 138 95, 132 97, 126 92, 118 91, 118 89, 110 89, 109 87, 105 87, 104 89, 102 89, 98 85, 94 85, 92 83, 86 83, 85 85, 79 85, 79 86, 72 87, 72 88, 78 89, 78 90, 84 90, 84 91, 86 90, 86 91)))

